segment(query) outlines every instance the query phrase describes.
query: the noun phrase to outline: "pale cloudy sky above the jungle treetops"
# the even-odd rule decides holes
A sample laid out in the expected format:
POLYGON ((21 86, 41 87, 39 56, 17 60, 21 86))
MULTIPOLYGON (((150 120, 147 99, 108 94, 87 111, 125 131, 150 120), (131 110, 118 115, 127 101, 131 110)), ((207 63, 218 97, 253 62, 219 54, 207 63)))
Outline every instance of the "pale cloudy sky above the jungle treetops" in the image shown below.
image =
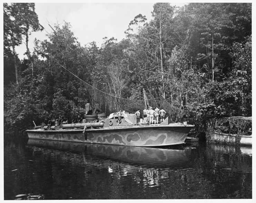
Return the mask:
MULTIPOLYGON (((156 1, 155 1, 156 2, 156 1)), ((35 12, 43 31, 32 32, 29 36, 29 49, 32 52, 34 39, 45 40, 55 24, 62 26, 69 22, 78 42, 82 46, 95 41, 101 47, 103 38, 114 37, 117 41, 125 38, 124 31, 138 14, 145 15, 148 21, 152 19, 151 12, 155 2, 142 3, 35 3, 35 12), (50 26, 49 26, 50 24, 50 26)), ((171 6, 183 6, 184 3, 170 2, 171 6)), ((16 48, 19 58, 23 59, 26 52, 24 43, 16 48)))

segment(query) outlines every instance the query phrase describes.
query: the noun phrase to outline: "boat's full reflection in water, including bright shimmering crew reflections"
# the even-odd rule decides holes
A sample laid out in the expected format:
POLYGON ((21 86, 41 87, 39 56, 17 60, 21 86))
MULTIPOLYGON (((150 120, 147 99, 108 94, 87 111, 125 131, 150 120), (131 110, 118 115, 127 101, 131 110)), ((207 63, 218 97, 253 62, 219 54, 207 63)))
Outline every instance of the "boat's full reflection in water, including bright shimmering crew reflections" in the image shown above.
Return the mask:
POLYGON ((56 161, 63 164, 75 160, 76 167, 84 168, 85 178, 88 180, 91 179, 90 173, 101 171, 100 173, 105 175, 107 173, 114 179, 131 175, 136 184, 155 187, 161 185, 161 180, 173 177, 175 172, 178 172, 176 173, 178 175, 182 173, 181 171, 195 169, 189 168, 190 164, 184 150, 38 139, 29 139, 28 145, 35 146, 34 150, 45 148, 46 153, 49 153, 48 149, 50 149, 50 153, 61 159, 56 161), (56 152, 58 150, 60 153, 56 152))

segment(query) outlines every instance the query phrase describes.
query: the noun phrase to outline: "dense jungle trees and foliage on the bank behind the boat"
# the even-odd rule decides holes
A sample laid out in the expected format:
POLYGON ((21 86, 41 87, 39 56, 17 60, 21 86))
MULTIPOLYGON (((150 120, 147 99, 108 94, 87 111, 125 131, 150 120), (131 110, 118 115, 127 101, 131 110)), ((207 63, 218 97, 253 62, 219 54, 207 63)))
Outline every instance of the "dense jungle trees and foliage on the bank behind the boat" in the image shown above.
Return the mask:
POLYGON ((154 105, 173 122, 198 132, 218 118, 252 116, 252 3, 155 3, 150 22, 138 14, 123 40, 105 37, 101 47, 81 45, 72 25, 56 24, 23 59, 15 47, 44 29, 35 4, 4 3, 3 11, 4 131, 61 116, 77 121, 87 102, 134 113, 143 88, 148 99, 164 98, 154 105))

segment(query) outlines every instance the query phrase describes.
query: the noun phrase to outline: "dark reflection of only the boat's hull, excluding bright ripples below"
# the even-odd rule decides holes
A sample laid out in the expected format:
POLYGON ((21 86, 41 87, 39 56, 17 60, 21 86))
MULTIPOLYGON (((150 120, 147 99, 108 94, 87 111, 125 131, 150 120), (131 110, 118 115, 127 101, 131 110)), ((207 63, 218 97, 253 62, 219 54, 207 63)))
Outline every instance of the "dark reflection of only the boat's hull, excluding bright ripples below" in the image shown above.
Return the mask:
MULTIPOLYGON (((125 167, 129 164, 128 167, 130 169, 132 166, 168 168, 174 170, 189 168, 186 153, 184 150, 180 149, 88 144, 38 139, 29 139, 28 145, 63 151, 83 152, 87 158, 90 158, 90 160, 92 160, 92 158, 110 160, 118 164, 123 163, 125 164, 125 167)), ((92 164, 95 165, 95 163, 92 164)))

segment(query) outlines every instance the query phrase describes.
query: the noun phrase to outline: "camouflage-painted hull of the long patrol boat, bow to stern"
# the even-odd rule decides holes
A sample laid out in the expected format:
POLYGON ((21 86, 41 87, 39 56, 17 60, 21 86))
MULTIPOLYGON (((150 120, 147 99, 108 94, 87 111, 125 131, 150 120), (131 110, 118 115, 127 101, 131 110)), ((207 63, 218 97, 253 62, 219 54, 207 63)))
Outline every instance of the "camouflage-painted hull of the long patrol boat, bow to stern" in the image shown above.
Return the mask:
POLYGON ((183 144, 193 125, 114 126, 83 130, 27 130, 29 139, 58 140, 127 146, 183 144))

